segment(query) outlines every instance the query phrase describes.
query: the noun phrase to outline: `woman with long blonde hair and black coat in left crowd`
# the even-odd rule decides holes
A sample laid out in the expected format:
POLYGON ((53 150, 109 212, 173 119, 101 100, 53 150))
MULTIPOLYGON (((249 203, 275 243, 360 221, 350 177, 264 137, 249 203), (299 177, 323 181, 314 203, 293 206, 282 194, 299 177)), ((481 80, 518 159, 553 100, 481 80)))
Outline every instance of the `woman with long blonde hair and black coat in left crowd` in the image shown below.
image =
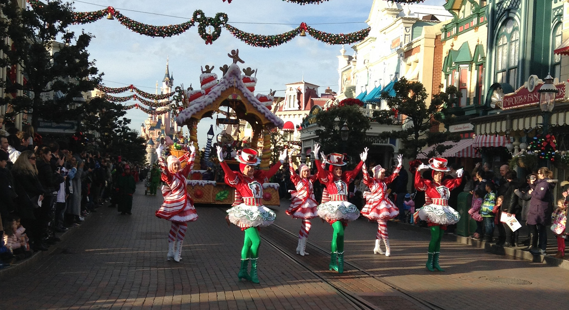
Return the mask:
POLYGON ((39 182, 35 162, 35 154, 31 150, 25 150, 14 162, 11 172, 18 194, 16 212, 21 217, 22 226, 27 228, 32 249, 46 251, 47 246, 42 244, 42 235, 38 232, 39 225, 34 215, 35 209, 39 208, 38 200, 43 200, 45 192, 39 182))

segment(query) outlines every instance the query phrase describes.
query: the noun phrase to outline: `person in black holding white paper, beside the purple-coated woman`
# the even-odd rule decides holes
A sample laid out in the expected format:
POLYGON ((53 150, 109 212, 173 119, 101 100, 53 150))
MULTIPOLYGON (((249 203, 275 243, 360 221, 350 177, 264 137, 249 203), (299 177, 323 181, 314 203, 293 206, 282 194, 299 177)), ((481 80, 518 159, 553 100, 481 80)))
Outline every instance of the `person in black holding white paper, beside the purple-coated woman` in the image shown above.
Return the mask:
MULTIPOLYGON (((516 190, 523 186, 523 181, 519 180, 516 171, 508 171, 504 175, 506 182, 504 183, 504 203, 502 203, 502 213, 507 213, 508 215, 514 215, 518 221, 522 220, 522 206, 519 204, 518 196, 516 195, 516 190)), ((519 229, 515 232, 509 228, 509 225, 502 223, 504 226, 504 231, 506 233, 506 238, 504 240, 504 246, 518 246, 519 239, 519 229)))

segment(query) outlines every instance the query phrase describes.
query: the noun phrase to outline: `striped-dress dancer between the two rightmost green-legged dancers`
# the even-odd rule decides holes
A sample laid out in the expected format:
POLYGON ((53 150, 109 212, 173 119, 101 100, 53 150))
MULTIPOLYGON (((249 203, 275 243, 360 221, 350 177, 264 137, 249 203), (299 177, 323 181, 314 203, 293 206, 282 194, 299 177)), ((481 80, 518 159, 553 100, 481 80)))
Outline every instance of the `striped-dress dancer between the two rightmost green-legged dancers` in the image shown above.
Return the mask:
MULTIPOLYGON (((365 152, 368 148, 365 148, 365 152)), ((399 209, 395 204, 387 198, 387 185, 397 177, 401 170, 403 156, 397 157, 398 164, 393 173, 389 177, 385 177, 385 169, 381 165, 372 168, 373 177, 369 177, 368 169, 365 164, 362 166, 364 173, 364 184, 369 187, 369 191, 364 192, 365 206, 361 210, 361 215, 369 220, 377 221, 376 247, 373 253, 391 255, 389 247, 389 236, 387 235, 387 220, 393 219, 399 215, 399 209), (381 240, 385 244, 385 252, 381 249, 381 240)))

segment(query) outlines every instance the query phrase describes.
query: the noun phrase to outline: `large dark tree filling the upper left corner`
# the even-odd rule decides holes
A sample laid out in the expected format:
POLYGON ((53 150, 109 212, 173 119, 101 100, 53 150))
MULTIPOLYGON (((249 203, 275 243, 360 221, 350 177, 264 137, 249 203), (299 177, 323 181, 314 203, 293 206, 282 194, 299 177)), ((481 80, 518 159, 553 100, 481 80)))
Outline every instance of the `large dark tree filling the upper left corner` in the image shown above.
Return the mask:
POLYGON ((10 70, 0 83, 7 94, 14 94, 0 98, 0 104, 11 104, 13 114, 32 115, 31 124, 38 129, 40 118, 52 122, 79 119, 83 108, 77 108, 73 98, 93 90, 101 75, 87 52, 92 35, 82 32, 76 36, 68 30, 73 23, 72 5, 59 0, 31 3, 21 9, 17 1, 0 0, 0 37, 9 38, 0 40, 5 56, 0 66, 10 70), (10 78, 17 70, 23 73, 23 83, 10 78), (19 90, 24 95, 17 95, 19 90))

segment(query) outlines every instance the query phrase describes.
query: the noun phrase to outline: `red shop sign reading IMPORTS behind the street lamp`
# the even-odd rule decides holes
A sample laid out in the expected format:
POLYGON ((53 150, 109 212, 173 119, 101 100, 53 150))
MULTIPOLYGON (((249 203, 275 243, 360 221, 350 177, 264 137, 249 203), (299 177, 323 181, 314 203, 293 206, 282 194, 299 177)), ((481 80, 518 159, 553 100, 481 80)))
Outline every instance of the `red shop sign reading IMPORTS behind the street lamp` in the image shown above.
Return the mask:
MULTIPOLYGON (((530 79, 516 91, 511 94, 505 94, 502 99, 502 110, 509 110, 512 108, 522 108, 527 106, 537 105, 539 103, 539 89, 543 82, 531 76, 530 79)), ((565 82, 555 84, 558 93, 555 99, 565 99, 565 82)))

